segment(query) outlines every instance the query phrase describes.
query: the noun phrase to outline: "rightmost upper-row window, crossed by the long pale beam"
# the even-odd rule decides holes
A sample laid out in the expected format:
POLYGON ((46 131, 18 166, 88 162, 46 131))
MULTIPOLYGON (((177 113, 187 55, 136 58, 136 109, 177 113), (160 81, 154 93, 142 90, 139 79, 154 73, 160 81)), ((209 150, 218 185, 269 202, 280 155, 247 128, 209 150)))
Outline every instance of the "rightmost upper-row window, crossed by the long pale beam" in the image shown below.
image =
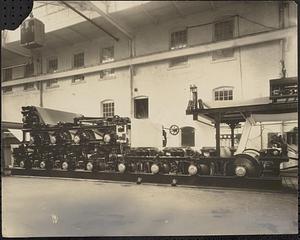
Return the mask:
MULTIPOLYGON (((234 37, 234 19, 229 19, 222 22, 216 22, 214 25, 214 41, 224 41, 234 37)), ((218 60, 223 58, 232 58, 234 56, 234 49, 222 49, 212 53, 212 59, 218 60)))

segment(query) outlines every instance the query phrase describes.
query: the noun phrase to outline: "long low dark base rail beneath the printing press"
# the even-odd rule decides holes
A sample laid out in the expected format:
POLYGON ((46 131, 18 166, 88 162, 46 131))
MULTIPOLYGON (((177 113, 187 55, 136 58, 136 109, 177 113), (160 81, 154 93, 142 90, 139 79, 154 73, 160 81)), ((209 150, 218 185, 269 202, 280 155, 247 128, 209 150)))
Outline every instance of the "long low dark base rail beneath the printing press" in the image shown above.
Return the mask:
POLYGON ((11 169, 12 175, 61 177, 79 179, 98 179, 120 182, 155 183, 188 185, 188 186, 211 186, 249 189, 281 189, 280 177, 242 178, 231 176, 186 176, 170 174, 145 174, 145 173, 119 173, 119 172, 89 172, 84 170, 41 170, 41 169, 11 169))

